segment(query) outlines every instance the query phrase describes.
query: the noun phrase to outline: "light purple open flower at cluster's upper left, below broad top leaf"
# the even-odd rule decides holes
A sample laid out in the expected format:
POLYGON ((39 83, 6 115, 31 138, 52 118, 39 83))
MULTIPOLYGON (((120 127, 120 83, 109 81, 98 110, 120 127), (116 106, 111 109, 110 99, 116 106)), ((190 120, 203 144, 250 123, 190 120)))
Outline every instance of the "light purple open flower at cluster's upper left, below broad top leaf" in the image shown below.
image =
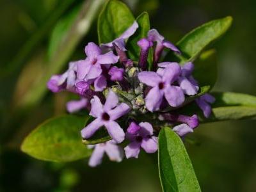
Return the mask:
POLYGON ((118 62, 118 56, 112 51, 102 54, 98 45, 90 42, 84 49, 87 58, 77 63, 77 78, 88 81, 95 79, 102 73, 101 65, 109 65, 118 62))

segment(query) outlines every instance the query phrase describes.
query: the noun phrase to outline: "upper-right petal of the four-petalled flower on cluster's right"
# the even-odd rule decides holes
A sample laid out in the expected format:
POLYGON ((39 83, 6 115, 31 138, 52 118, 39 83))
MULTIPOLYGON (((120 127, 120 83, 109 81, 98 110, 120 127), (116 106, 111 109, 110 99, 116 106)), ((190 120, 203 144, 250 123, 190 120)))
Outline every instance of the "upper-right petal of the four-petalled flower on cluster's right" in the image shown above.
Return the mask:
POLYGON ((180 70, 181 68, 179 63, 171 63, 164 70, 163 81, 166 83, 173 83, 179 77, 180 70))

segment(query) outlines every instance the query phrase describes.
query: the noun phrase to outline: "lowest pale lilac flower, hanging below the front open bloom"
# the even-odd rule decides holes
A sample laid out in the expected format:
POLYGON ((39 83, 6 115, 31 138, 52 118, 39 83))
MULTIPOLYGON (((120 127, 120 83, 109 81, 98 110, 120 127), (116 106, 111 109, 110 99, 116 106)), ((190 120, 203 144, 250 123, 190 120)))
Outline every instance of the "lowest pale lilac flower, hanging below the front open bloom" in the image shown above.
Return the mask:
POLYGON ((92 167, 95 167, 102 162, 102 157, 104 156, 105 152, 111 161, 120 162, 124 157, 124 150, 122 147, 116 145, 114 140, 96 145, 88 145, 88 148, 94 148, 92 156, 89 160, 89 166, 92 167))

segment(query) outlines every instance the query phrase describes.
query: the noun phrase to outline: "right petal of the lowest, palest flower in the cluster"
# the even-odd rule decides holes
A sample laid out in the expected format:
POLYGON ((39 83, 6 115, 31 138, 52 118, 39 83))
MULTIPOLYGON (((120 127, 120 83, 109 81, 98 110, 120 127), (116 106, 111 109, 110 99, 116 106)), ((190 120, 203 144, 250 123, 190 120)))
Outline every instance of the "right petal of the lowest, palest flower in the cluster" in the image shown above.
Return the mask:
POLYGON ((106 143, 105 150, 106 150, 106 154, 108 155, 111 161, 116 161, 116 162, 122 161, 124 157, 124 150, 122 147, 114 143, 109 143, 108 141, 106 143))

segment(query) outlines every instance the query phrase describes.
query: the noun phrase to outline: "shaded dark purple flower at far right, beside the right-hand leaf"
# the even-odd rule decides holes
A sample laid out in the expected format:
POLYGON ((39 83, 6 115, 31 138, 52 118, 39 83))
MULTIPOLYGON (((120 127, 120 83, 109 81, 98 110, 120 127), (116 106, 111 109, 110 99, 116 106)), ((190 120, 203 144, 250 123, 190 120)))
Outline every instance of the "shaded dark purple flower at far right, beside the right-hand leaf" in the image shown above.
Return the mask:
POLYGON ((211 115, 212 108, 209 105, 209 103, 214 103, 215 98, 212 97, 209 93, 206 93, 205 95, 202 95, 198 99, 196 99, 196 104, 199 106, 200 109, 202 109, 204 116, 208 118, 211 115))

